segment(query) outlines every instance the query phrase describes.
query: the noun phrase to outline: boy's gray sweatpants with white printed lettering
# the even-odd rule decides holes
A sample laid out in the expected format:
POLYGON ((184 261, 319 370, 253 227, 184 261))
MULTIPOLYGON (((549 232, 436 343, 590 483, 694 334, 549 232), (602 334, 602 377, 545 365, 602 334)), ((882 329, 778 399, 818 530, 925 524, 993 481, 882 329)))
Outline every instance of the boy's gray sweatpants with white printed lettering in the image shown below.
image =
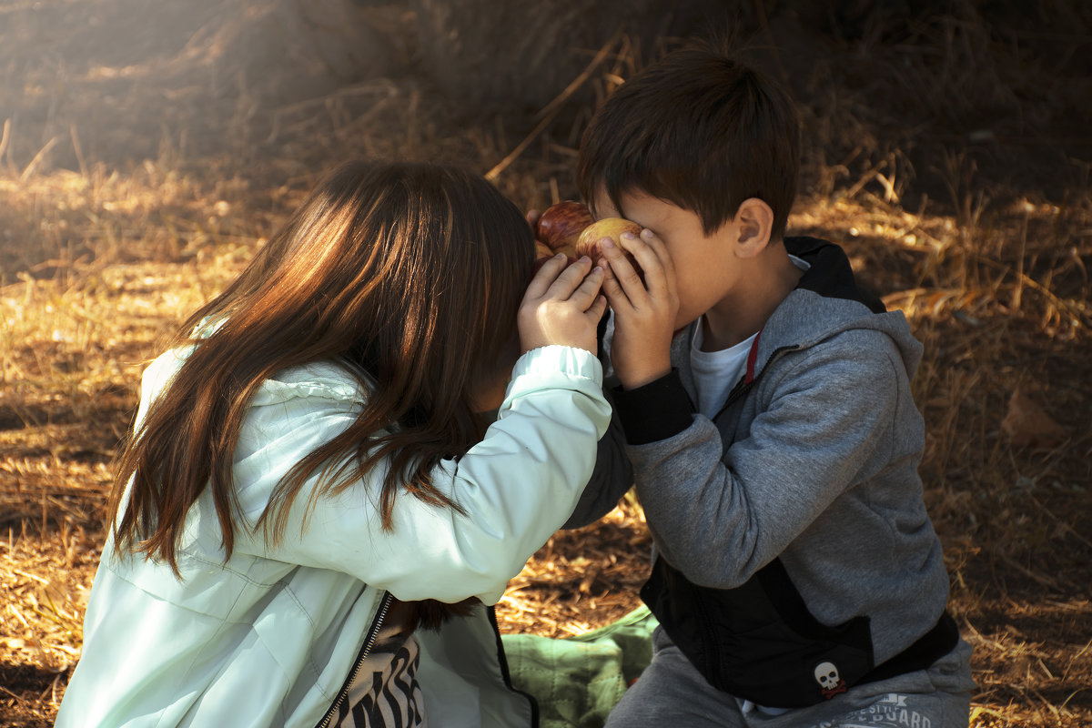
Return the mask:
POLYGON ((927 670, 857 685, 814 705, 773 716, 712 688, 660 628, 652 664, 626 691, 606 728, 966 728, 971 645, 960 641, 927 670))

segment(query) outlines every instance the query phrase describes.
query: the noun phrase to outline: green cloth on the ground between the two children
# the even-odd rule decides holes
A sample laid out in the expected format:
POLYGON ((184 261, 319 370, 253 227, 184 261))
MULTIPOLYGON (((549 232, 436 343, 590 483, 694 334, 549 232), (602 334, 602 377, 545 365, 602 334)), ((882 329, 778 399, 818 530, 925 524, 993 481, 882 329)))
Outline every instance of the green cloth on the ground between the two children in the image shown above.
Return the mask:
POLYGON ((505 634, 512 685, 538 701, 542 728, 602 728, 652 660, 656 618, 641 606, 574 637, 505 634))

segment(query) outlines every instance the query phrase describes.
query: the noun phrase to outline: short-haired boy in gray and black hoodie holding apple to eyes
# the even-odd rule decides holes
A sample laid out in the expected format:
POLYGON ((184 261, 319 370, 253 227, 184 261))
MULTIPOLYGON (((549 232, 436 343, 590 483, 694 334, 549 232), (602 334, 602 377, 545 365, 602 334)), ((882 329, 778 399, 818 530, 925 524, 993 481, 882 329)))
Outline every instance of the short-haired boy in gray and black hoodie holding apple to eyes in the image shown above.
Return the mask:
POLYGON ((608 726, 968 725, 970 646, 916 469, 922 347, 838 246, 785 237, 798 124, 768 79, 690 46, 582 141, 593 213, 646 228, 622 240, 643 283, 616 246, 602 263, 660 628, 608 726))

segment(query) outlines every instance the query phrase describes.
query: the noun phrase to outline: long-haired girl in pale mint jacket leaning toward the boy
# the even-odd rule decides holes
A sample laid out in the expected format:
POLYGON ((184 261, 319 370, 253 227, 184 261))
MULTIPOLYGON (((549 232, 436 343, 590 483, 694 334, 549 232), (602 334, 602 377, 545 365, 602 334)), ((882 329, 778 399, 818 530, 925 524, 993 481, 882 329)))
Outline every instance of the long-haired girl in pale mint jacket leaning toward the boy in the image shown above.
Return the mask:
POLYGON ((603 273, 532 259, 459 169, 320 186, 144 372, 57 725, 531 723, 483 605, 610 417, 603 273))

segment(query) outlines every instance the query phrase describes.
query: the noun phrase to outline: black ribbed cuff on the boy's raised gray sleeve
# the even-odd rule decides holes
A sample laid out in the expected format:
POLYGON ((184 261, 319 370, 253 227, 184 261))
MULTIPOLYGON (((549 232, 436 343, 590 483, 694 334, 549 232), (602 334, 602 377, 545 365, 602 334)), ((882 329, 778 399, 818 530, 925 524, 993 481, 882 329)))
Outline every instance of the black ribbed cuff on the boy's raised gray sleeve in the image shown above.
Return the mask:
POLYGON ((677 369, 640 386, 624 384, 613 394, 626 442, 631 445, 666 440, 693 421, 690 397, 677 369))

